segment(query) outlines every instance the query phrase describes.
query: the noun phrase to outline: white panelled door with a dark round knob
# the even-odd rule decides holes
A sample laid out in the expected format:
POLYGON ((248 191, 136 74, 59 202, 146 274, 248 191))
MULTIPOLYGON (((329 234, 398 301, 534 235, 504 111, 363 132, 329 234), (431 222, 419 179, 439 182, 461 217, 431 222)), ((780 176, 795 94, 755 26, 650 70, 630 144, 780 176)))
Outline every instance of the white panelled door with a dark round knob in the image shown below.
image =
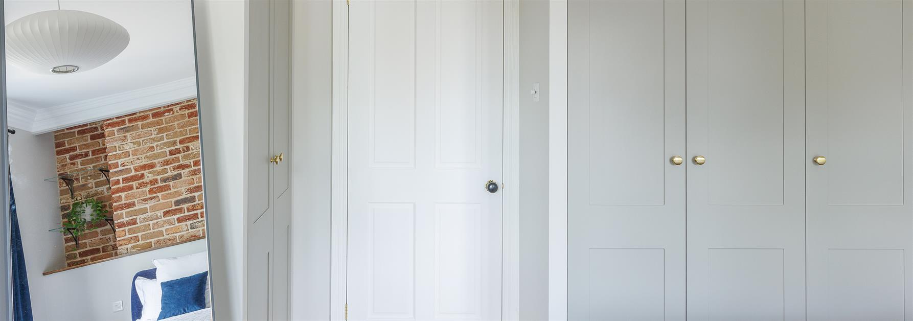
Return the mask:
POLYGON ((349 6, 349 320, 501 317, 502 6, 349 6))

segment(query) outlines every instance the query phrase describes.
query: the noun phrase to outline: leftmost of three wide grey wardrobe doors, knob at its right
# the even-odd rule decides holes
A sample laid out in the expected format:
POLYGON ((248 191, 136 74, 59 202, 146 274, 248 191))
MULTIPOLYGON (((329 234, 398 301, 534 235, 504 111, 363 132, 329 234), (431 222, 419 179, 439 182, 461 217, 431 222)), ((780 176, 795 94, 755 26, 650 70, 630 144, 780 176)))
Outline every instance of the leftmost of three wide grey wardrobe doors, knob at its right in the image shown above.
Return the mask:
POLYGON ((685 3, 569 2, 571 320, 685 318, 685 3))

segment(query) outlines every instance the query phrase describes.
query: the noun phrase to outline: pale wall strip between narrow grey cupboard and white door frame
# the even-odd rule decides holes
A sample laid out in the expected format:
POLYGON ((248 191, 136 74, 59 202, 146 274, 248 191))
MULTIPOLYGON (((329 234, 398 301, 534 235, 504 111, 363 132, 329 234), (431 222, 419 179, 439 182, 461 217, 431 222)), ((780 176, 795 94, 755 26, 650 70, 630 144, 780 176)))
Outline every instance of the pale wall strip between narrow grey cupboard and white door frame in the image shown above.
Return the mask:
POLYGON ((330 319, 331 5, 292 7, 292 320, 330 319))

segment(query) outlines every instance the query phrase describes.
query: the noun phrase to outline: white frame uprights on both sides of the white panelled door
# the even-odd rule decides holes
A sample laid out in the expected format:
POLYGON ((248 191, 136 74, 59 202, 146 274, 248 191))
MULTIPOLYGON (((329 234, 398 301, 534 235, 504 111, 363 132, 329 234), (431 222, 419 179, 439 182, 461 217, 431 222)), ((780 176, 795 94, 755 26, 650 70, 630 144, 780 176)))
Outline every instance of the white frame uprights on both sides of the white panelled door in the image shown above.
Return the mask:
MULTIPOLYGON (((349 5, 333 0, 330 319, 345 320, 349 5)), ((358 0, 354 0, 358 1, 358 0)), ((501 319, 519 320, 519 0, 503 0, 501 319)), ((554 98, 552 98, 554 100, 554 98)))

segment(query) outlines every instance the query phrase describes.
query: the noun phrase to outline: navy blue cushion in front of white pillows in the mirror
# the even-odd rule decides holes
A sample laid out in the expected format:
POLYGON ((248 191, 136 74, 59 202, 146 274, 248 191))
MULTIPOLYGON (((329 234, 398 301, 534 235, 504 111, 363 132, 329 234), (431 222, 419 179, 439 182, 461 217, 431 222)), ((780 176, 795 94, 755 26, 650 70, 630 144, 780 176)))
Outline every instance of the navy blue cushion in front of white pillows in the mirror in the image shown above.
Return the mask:
POLYGON ((193 274, 162 283, 162 313, 159 320, 206 307, 206 275, 193 274))

